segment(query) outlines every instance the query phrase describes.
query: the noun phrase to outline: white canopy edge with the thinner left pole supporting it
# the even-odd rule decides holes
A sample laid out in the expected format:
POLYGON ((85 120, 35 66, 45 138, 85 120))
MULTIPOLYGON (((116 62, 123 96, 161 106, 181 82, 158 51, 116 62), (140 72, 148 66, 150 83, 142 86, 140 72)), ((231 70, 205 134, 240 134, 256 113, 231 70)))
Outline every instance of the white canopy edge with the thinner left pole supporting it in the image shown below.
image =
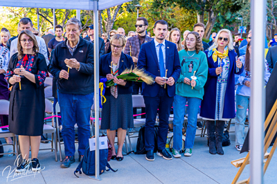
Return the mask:
MULTIPOLYGON (((131 0, 0 0, 0 6, 26 8, 54 8, 71 10, 93 10, 94 28, 98 28, 98 10, 104 10, 131 0)), ((78 17, 79 18, 79 17, 78 17)), ((99 176, 99 43, 98 29, 94 30, 94 105, 96 119, 96 176, 90 177, 100 180, 99 176)))

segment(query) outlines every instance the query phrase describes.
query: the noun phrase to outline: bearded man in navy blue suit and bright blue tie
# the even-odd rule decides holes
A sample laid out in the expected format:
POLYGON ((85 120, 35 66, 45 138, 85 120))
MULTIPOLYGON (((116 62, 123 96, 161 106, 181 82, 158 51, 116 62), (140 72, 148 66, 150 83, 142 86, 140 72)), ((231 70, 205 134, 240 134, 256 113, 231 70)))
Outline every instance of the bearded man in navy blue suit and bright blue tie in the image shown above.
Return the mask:
POLYGON ((175 96, 175 81, 179 78, 181 66, 175 43, 166 41, 168 23, 160 20, 154 23, 155 39, 141 45, 138 68, 143 68, 153 77, 152 85, 143 83, 142 94, 146 108, 145 150, 146 160, 154 161, 154 125, 159 109, 159 132, 157 135, 158 156, 171 160, 166 151, 168 119, 175 96))

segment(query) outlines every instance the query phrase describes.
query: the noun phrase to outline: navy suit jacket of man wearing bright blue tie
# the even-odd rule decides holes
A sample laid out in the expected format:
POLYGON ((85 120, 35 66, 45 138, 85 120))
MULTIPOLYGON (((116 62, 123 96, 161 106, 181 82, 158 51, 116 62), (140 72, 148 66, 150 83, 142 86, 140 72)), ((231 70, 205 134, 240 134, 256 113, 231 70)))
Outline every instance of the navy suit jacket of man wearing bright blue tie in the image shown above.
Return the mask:
MULTIPOLYGON (((138 68, 143 68, 153 79, 155 79, 156 76, 161 76, 154 40, 141 45, 138 68)), ((179 79, 181 66, 176 44, 170 41, 166 41, 166 69, 168 70, 167 77, 169 78, 172 76, 176 82, 179 79)), ((159 88, 161 88, 161 86, 158 83, 153 83, 152 85, 143 83, 141 94, 143 94, 143 96, 154 97, 157 96, 159 88)), ((168 96, 175 96, 175 84, 171 86, 166 85, 166 89, 168 96)))

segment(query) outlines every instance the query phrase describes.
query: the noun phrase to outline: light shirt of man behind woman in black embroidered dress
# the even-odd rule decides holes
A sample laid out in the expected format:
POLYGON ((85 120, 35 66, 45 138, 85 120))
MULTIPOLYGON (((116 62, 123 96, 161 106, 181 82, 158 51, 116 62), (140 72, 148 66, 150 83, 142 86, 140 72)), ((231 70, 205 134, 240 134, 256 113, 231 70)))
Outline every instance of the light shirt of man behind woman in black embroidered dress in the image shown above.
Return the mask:
MULTIPOLYGON (((35 36, 35 38, 37 39, 37 45, 39 46, 39 53, 44 55, 46 64, 48 65, 49 60, 48 60, 47 48, 46 48, 45 41, 41 37, 35 36)), ((17 51, 17 41, 18 41, 18 38, 14 39, 12 41, 12 43, 10 43, 10 58, 12 57, 13 54, 18 52, 17 51)))

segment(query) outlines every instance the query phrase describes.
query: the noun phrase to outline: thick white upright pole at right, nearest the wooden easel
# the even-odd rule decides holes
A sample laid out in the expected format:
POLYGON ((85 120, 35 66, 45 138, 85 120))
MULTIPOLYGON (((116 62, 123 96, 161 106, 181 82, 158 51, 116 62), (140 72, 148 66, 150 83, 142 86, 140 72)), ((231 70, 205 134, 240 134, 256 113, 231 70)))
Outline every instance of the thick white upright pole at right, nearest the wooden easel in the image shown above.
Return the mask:
POLYGON ((250 183, 263 183, 265 122, 265 2, 251 1, 250 183))

